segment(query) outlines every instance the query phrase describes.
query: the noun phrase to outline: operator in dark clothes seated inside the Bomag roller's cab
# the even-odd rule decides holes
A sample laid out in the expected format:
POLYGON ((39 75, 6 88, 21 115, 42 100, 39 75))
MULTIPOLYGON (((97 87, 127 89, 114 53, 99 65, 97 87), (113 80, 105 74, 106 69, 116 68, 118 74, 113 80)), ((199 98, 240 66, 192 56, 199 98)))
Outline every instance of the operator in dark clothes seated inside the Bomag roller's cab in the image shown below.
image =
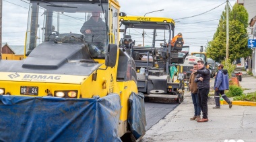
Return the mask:
POLYGON ((84 22, 80 32, 84 34, 92 56, 99 57, 100 54, 106 54, 104 49, 106 48, 106 23, 100 18, 100 11, 92 12, 92 17, 84 22))

